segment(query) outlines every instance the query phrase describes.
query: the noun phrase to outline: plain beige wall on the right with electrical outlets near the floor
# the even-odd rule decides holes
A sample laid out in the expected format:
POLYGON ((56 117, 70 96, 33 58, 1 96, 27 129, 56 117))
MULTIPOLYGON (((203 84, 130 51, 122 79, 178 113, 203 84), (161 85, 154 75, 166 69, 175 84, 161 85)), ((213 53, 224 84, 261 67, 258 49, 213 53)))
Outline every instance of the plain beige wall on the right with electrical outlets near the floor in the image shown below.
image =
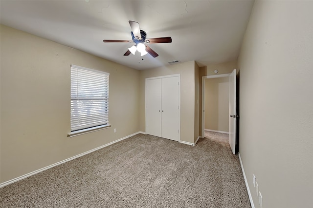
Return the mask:
POLYGON ((240 156, 253 202, 313 204, 313 1, 255 1, 240 52, 240 156))

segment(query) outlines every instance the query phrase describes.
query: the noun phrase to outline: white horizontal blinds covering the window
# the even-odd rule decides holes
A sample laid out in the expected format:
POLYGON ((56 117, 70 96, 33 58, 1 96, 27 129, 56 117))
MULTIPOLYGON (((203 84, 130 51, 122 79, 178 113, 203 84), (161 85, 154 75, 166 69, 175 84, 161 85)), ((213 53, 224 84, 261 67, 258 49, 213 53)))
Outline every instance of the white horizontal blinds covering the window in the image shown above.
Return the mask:
POLYGON ((71 132, 109 123, 109 75, 71 65, 71 132))

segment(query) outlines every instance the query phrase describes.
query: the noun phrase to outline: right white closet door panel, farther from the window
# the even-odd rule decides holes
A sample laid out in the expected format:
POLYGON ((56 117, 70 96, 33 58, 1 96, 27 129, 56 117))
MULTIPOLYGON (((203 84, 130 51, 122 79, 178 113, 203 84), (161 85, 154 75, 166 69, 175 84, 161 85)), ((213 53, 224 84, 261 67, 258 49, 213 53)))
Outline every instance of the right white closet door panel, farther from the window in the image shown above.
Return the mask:
POLYGON ((179 77, 162 78, 161 137, 179 141, 179 77))

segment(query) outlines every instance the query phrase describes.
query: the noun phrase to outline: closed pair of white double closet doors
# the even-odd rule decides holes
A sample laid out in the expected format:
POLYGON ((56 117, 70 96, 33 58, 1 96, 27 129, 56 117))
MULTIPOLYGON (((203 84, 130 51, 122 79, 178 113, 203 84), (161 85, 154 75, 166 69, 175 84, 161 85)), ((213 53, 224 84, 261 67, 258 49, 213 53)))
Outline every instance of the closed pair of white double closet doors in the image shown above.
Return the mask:
POLYGON ((180 75, 146 78, 146 133, 180 140, 180 75))

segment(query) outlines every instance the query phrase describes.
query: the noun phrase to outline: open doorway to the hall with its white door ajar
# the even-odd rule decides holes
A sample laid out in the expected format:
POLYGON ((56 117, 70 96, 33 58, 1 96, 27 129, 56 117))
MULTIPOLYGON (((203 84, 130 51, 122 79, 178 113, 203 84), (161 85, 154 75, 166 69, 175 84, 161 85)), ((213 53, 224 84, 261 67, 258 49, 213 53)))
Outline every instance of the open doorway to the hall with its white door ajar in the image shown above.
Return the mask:
POLYGON ((233 154, 237 152, 236 150, 238 149, 239 144, 236 142, 236 120, 237 120, 236 118, 238 114, 236 113, 235 109, 236 109, 236 70, 233 70, 231 74, 202 76, 201 136, 204 137, 205 133, 207 134, 208 131, 210 131, 213 134, 222 133, 222 135, 217 136, 222 136, 224 138, 226 137, 227 139, 226 133, 228 133, 228 143, 233 154), (211 86, 211 88, 208 89, 207 87, 205 87, 205 85, 208 85, 208 83, 210 82, 212 82, 213 85, 211 86), (225 88, 229 89, 228 92, 227 90, 225 90, 225 88), (224 95, 222 94, 215 95, 215 98, 212 98, 214 96, 210 94, 218 94, 219 91, 221 91, 222 94, 224 93, 224 95), (206 97, 211 98, 210 102, 205 102, 207 101, 206 97), (229 99, 227 99, 227 97, 229 99), (206 108, 206 105, 210 105, 212 109, 206 108), (209 117, 210 120, 207 119, 207 117, 209 117))

